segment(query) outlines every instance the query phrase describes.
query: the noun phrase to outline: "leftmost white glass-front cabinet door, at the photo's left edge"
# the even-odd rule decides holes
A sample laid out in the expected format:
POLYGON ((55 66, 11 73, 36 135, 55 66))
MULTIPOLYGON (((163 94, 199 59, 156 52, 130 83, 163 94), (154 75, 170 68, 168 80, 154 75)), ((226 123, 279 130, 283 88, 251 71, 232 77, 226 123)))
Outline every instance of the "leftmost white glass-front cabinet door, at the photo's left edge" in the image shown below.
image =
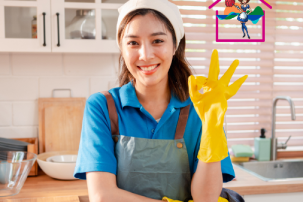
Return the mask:
POLYGON ((51 0, 0 0, 0 52, 51 52, 51 0))

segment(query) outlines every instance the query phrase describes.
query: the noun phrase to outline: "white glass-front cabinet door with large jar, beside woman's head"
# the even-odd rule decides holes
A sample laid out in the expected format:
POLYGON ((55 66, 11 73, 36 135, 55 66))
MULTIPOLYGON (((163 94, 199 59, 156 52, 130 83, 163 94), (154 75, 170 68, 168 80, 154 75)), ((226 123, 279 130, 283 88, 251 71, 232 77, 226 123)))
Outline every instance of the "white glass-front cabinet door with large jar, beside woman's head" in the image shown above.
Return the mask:
POLYGON ((127 0, 51 0, 52 52, 119 53, 118 8, 127 0))

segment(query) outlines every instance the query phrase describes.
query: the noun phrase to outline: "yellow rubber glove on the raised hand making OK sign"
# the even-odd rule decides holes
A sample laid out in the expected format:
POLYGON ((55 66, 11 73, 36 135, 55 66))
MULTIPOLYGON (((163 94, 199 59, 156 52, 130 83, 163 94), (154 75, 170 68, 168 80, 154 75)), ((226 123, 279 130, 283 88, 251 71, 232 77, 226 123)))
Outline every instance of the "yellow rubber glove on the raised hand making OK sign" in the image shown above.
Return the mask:
POLYGON ((218 162, 228 157, 227 140, 223 131, 227 100, 236 94, 247 75, 229 85, 238 66, 235 60, 225 74, 218 80, 219 57, 214 49, 208 78, 189 76, 188 87, 194 109, 202 121, 202 136, 197 158, 203 162, 218 162), (204 94, 198 92, 203 87, 204 94))

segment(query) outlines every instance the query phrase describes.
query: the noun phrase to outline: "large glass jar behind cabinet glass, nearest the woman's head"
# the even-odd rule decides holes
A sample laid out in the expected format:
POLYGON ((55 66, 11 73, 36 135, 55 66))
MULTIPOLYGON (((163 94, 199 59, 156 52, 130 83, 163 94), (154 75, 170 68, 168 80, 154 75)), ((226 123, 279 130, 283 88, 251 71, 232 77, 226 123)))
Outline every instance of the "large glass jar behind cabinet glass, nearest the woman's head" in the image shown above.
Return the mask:
POLYGON ((72 39, 95 39, 95 36, 95 10, 77 10, 70 25, 70 37, 72 39))

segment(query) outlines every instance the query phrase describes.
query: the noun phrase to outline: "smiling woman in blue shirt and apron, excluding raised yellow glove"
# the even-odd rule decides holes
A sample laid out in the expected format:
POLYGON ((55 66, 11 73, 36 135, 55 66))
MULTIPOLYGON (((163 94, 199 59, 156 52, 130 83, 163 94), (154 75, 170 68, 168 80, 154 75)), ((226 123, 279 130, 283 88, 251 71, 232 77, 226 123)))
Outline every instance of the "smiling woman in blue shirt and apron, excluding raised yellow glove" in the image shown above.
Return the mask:
POLYGON ((131 0, 118 11, 120 87, 87 99, 74 176, 87 180, 90 202, 218 201, 234 171, 228 155, 197 159, 202 129, 179 9, 131 0))

